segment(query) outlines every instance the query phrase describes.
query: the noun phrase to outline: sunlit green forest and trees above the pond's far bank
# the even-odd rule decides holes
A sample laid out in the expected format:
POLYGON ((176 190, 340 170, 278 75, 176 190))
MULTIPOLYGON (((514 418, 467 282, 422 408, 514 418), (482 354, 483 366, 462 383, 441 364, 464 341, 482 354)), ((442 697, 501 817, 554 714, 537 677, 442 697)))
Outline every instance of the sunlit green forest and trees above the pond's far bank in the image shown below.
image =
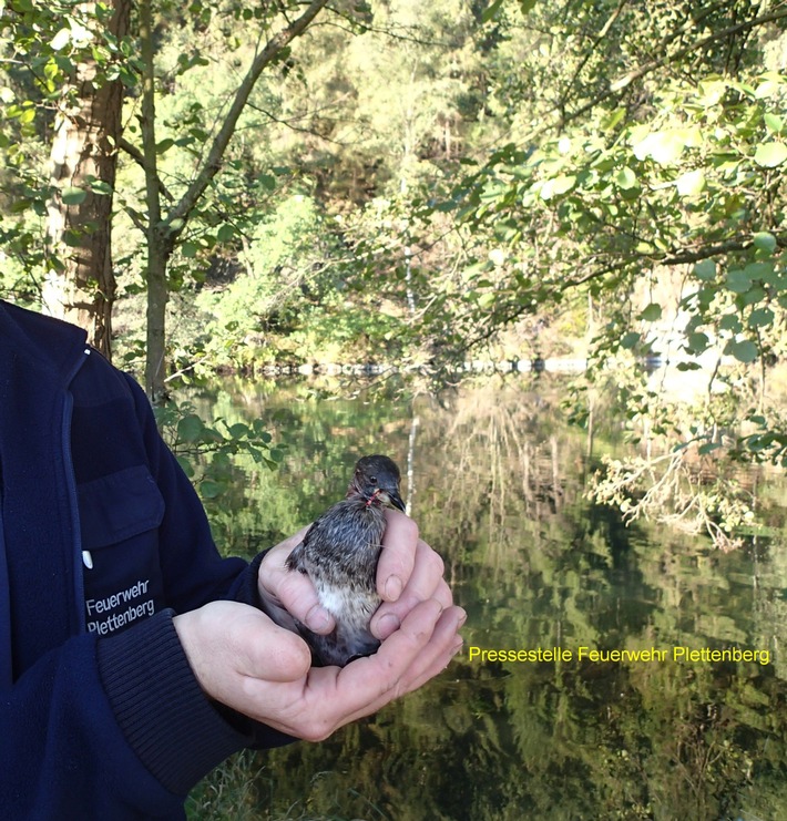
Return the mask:
POLYGON ((579 358, 572 419, 604 397, 642 444, 601 501, 723 547, 752 524, 729 465, 787 461, 784 0, 0 11, 0 296, 154 401, 273 362, 579 358))

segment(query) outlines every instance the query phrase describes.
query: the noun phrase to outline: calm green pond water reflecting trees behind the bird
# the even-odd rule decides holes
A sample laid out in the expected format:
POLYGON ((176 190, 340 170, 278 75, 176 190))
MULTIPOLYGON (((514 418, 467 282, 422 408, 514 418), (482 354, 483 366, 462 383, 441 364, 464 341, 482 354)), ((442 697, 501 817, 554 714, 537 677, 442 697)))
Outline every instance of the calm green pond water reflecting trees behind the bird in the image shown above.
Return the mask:
POLYGON ((626 527, 583 494, 625 445, 609 421, 591 452, 561 392, 522 378, 440 400, 305 382, 192 396, 286 445, 279 470, 241 459, 208 501, 223 550, 274 544, 343 495, 359 454, 388 453, 468 612, 439 678, 323 743, 235 757, 192 818, 787 819, 784 485, 756 485, 770 536, 734 553, 626 527))

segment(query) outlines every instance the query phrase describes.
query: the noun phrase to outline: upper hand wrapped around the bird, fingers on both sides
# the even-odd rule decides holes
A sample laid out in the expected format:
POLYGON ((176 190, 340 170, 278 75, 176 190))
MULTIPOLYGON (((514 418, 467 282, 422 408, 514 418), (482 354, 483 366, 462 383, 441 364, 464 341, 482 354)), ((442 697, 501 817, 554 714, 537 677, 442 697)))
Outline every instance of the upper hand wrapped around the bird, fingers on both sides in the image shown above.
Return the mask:
MULTIPOLYGON (((443 563, 429 545, 418 537, 418 525, 398 511, 386 510, 386 533, 377 565, 377 592, 382 604, 371 618, 372 634, 385 639, 399 628, 407 614, 430 598, 443 608, 453 598, 442 577, 443 563)), ((336 626, 334 617, 320 606, 311 582, 301 573, 287 569, 285 562, 303 541, 308 527, 273 547, 259 567, 258 589, 266 612, 289 629, 293 617, 314 633, 327 634, 336 626)))

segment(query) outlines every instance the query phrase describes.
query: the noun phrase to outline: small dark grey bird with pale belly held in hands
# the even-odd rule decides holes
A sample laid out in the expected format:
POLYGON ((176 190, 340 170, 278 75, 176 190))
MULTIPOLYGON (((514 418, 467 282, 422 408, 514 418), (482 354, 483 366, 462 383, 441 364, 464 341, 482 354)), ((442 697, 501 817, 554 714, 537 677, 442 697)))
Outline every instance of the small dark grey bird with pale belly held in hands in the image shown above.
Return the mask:
POLYGON ((314 522, 287 557, 287 568, 311 579, 320 605, 336 620, 336 628, 325 636, 296 620, 315 666, 345 667, 380 646, 369 620, 382 601, 377 593, 377 562, 386 532, 384 510, 405 512, 400 481, 392 459, 361 456, 345 499, 314 522))

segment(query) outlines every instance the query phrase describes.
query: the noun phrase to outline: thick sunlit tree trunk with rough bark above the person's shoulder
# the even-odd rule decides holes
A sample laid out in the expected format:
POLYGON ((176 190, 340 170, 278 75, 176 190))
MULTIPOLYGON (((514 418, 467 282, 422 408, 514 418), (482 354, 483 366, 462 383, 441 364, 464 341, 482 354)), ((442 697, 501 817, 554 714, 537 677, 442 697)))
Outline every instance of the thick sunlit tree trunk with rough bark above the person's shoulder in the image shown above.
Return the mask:
MULTIPOLYGON (((109 31, 129 31, 131 0, 110 0, 109 31)), ((84 3, 93 17, 95 3, 84 3)), ((112 192, 121 134, 123 84, 102 82, 99 66, 86 60, 67 86, 54 123, 51 151, 53 194, 48 205, 49 270, 43 309, 83 327, 91 342, 111 356, 112 192)))

